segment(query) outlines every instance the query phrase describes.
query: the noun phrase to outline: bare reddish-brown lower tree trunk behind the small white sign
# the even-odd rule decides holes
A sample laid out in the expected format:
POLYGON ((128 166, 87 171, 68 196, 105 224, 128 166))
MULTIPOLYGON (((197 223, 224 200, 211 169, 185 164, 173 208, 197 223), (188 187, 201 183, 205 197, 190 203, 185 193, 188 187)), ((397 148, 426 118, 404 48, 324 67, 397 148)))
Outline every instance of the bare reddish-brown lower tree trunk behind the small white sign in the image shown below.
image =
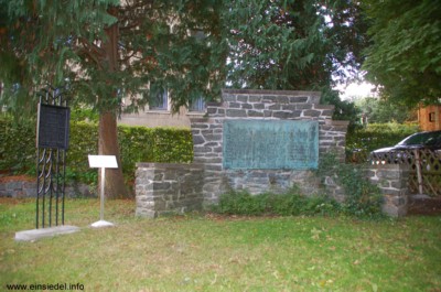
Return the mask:
POLYGON ((106 169, 105 194, 108 198, 126 197, 128 193, 119 155, 117 120, 112 112, 105 112, 99 116, 98 137, 98 153, 115 155, 118 162, 118 169, 106 169))

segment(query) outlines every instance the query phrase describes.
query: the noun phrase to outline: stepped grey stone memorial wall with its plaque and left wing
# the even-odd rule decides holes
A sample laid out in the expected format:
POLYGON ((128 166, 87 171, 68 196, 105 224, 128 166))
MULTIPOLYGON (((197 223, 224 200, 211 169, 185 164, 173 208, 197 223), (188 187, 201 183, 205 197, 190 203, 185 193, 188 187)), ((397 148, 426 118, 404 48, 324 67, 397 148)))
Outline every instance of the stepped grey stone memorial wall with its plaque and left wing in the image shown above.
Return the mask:
POLYGON ((281 193, 297 185, 318 193, 320 156, 332 151, 344 161, 347 122, 333 121, 333 112, 315 91, 223 90, 222 102, 191 119, 193 164, 138 164, 137 214, 184 210, 189 197, 194 209, 230 190, 281 193), (178 191, 176 175, 186 191, 178 191))

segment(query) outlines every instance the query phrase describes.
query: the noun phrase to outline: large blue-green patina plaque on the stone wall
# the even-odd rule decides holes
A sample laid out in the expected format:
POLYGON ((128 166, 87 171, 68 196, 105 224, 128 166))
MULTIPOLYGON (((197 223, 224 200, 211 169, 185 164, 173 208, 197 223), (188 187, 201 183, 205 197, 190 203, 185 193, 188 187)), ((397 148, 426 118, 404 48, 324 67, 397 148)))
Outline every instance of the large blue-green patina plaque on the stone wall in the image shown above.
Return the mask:
POLYGON ((319 164, 319 122, 227 120, 224 169, 310 170, 319 164))

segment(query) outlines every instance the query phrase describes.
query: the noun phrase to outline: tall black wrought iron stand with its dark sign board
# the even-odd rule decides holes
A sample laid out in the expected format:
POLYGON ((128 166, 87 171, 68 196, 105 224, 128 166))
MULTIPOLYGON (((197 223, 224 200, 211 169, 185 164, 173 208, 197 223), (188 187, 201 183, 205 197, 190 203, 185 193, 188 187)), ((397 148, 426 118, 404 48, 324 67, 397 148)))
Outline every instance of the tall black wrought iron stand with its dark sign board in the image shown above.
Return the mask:
POLYGON ((62 89, 47 86, 37 95, 35 227, 44 228, 51 227, 54 219, 55 226, 64 225, 69 109, 62 89))

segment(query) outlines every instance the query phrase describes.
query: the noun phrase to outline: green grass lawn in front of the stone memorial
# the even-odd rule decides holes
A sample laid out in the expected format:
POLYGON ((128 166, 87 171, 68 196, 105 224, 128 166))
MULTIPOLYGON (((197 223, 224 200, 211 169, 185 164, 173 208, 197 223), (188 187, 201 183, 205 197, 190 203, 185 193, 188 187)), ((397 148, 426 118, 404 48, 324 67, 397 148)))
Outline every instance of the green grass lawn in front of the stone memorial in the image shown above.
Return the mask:
POLYGON ((85 291, 441 291, 441 217, 136 218, 98 199, 66 202, 79 232, 15 242, 33 201, 0 201, 0 290, 79 283, 85 291))

